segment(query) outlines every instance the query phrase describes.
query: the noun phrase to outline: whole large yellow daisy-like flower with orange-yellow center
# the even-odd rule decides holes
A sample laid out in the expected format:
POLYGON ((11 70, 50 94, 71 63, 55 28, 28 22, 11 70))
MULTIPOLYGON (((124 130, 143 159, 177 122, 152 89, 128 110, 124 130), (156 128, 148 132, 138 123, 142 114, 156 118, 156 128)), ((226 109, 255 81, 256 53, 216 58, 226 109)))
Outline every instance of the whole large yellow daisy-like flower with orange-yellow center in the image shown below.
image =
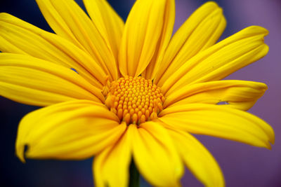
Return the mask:
POLYGON ((153 186, 179 186, 184 165, 205 186, 224 186, 216 160, 190 133, 274 143, 272 128, 246 112, 266 85, 219 81, 268 53, 266 29, 216 43, 226 20, 214 2, 172 37, 174 0, 138 0, 125 24, 104 0, 84 0, 91 19, 72 0, 37 4, 55 34, 0 14, 0 95, 46 106, 20 122, 22 162, 95 156, 96 185, 119 187, 133 158, 153 186))

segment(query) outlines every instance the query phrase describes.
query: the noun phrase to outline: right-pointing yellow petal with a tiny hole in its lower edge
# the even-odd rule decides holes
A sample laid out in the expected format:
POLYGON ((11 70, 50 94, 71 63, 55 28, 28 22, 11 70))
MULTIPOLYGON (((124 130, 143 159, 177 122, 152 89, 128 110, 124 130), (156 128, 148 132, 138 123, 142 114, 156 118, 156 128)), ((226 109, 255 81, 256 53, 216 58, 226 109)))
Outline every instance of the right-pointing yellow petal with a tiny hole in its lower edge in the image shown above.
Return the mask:
POLYGON ((263 83, 252 81, 210 81, 184 85, 166 96, 163 107, 171 104, 184 105, 192 103, 218 104, 235 109, 248 110, 266 91, 263 83))

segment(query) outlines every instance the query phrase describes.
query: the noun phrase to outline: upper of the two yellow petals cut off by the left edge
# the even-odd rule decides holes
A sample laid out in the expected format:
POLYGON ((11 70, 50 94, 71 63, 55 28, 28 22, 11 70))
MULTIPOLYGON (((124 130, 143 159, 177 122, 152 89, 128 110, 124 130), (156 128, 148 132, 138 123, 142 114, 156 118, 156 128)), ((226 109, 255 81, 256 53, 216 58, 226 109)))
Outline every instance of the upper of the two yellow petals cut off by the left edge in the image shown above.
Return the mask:
POLYGON ((0 13, 0 50, 27 54, 73 68, 93 85, 102 88, 105 71, 90 55, 62 37, 45 32, 13 15, 0 13))

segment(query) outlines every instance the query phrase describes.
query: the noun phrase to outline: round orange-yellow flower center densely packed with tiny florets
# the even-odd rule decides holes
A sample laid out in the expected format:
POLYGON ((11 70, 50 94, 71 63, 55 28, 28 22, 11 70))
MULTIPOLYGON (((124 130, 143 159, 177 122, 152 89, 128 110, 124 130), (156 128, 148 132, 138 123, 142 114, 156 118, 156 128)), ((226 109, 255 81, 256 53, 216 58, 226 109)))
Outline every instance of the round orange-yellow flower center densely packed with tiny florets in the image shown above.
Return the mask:
POLYGON ((141 124, 157 118, 162 111, 164 95, 151 80, 126 76, 112 81, 105 105, 127 125, 141 124))

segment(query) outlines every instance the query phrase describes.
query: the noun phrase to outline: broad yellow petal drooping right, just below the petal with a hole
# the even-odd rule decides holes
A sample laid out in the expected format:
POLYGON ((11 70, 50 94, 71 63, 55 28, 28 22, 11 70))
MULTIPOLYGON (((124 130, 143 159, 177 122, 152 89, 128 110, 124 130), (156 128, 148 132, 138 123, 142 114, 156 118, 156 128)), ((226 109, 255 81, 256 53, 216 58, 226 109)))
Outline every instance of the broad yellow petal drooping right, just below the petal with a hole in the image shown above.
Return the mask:
POLYGON ((159 113, 169 127, 270 148, 272 127, 251 113, 212 104, 170 106, 159 113))

